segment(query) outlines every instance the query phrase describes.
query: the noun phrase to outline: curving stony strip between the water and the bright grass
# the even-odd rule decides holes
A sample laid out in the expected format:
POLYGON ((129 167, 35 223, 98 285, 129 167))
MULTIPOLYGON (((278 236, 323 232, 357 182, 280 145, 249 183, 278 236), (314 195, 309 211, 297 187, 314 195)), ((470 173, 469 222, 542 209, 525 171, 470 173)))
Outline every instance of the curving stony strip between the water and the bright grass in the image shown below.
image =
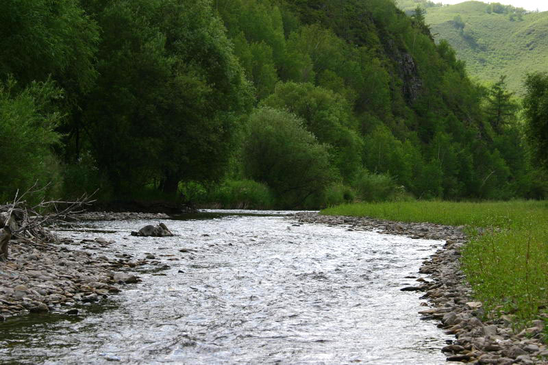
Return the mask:
POLYGON ((428 308, 419 312, 425 319, 440 321, 446 333, 456 337, 442 349, 448 361, 470 364, 548 364, 548 349, 543 343, 543 318, 532 321, 520 331, 512 329, 512 317, 501 318, 486 314, 482 303, 473 301, 472 289, 460 270, 460 250, 466 243, 464 227, 430 223, 401 223, 381 219, 347 216, 320 216, 297 213, 300 223, 345 225, 352 230, 376 230, 383 234, 405 235, 410 238, 445 240, 440 249, 425 260, 417 277, 417 285, 402 288, 424 292, 422 299, 428 308))

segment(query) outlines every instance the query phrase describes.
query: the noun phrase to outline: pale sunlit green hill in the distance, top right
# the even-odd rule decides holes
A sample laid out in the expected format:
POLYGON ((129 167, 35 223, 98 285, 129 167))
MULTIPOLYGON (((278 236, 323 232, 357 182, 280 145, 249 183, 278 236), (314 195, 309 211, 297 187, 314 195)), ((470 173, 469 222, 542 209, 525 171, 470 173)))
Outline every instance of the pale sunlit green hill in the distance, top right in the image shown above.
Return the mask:
POLYGON ((527 12, 510 5, 466 1, 456 5, 400 0, 408 14, 420 5, 436 41, 446 39, 466 62, 470 75, 496 81, 521 94, 525 73, 548 71, 548 12, 527 12))

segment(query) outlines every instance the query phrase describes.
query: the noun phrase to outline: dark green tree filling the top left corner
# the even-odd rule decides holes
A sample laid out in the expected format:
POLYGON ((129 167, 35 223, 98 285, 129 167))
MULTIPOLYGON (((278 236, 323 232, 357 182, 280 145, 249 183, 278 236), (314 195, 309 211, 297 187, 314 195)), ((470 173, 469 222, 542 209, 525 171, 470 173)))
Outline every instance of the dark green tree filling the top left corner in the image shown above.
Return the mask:
POLYGON ((83 95, 95 85, 99 27, 78 0, 2 2, 0 11, 0 80, 8 75, 25 88, 51 76, 64 97, 55 100, 67 116, 58 129, 64 134, 67 158, 79 155, 83 95), (70 155, 70 156, 69 156, 70 155))

